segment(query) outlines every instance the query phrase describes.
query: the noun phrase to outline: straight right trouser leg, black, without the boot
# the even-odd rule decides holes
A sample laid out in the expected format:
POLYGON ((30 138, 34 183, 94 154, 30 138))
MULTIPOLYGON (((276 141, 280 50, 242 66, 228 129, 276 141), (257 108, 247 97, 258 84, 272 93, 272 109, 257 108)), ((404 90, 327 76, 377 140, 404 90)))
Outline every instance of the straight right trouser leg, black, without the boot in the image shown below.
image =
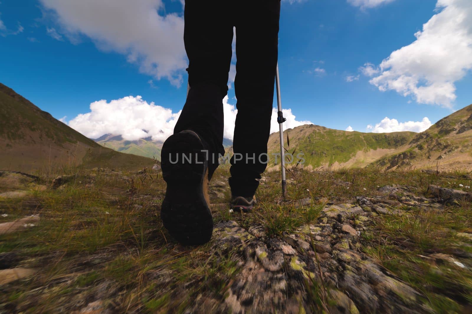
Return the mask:
POLYGON ((279 0, 241 1, 236 12, 237 116, 229 184, 252 198, 267 166, 267 141, 278 58, 279 0), (242 160, 237 160, 240 157, 242 160), (249 158, 254 159, 247 159, 249 158))

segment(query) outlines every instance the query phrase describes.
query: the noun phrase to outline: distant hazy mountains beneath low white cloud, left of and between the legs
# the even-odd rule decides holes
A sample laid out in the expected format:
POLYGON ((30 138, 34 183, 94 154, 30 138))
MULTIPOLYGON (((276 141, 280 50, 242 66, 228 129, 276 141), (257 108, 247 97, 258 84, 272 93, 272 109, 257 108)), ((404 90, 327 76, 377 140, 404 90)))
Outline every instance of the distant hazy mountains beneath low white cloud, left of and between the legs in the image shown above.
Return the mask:
MULTIPOLYGON (((139 140, 125 140, 121 135, 104 134, 98 139, 94 139, 103 147, 114 149, 116 151, 134 154, 143 157, 156 158, 160 160, 160 150, 162 149, 163 141, 152 140, 151 137, 139 140)), ((223 146, 225 148, 233 145, 233 141, 223 139, 223 146)))

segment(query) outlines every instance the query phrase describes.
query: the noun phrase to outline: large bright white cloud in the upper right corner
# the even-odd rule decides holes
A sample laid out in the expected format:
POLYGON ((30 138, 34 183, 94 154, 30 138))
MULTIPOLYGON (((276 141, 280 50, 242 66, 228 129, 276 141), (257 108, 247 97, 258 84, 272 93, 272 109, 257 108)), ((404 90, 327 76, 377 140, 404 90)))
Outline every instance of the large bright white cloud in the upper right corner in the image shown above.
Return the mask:
POLYGON ((416 41, 383 60, 370 83, 418 103, 452 108, 455 82, 472 69, 472 1, 438 0, 436 10, 415 33, 416 41))

